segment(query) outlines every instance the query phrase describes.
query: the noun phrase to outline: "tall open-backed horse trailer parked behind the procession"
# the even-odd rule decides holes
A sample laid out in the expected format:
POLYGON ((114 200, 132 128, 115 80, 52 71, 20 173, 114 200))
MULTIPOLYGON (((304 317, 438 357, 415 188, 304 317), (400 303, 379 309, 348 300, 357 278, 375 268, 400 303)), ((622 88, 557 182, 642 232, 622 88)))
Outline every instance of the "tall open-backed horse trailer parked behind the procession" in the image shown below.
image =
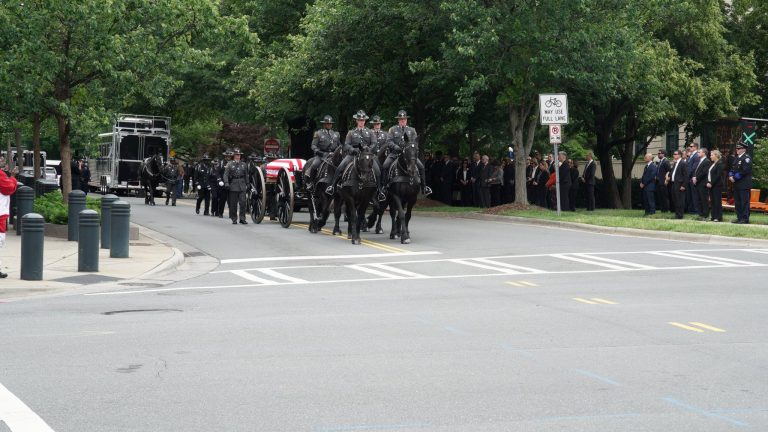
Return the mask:
POLYGON ((171 118, 118 114, 112 132, 99 134, 99 156, 88 161, 91 189, 124 195, 138 193, 141 163, 160 154, 168 160, 171 148, 171 118))

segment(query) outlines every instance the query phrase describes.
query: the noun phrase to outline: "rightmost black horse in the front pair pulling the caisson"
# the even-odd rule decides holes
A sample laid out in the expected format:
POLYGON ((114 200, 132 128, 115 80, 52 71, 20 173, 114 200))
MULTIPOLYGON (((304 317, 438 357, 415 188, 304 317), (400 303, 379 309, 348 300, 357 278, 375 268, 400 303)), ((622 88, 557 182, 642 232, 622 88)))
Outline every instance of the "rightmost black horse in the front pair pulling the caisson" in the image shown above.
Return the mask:
POLYGON ((389 238, 400 237, 400 243, 411 242, 411 234, 408 230, 408 222, 411 220, 411 211, 421 189, 421 177, 416 161, 419 157, 419 148, 416 143, 405 146, 403 152, 397 157, 397 162, 390 167, 389 185, 389 214, 392 217, 392 230, 389 238))

